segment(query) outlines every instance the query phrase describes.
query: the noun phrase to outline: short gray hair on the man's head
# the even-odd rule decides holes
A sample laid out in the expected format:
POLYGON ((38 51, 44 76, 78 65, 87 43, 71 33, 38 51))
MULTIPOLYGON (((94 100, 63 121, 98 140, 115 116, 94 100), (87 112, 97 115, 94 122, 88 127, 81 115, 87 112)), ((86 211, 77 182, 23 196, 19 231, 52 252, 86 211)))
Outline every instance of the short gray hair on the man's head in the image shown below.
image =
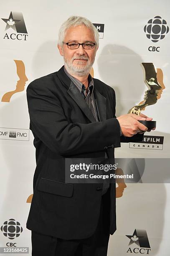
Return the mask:
POLYGON ((64 40, 64 36, 66 34, 66 31, 68 28, 70 27, 76 27, 79 25, 84 25, 87 28, 91 29, 91 31, 94 34, 94 40, 96 43, 96 47, 99 46, 99 32, 97 31, 97 29, 95 28, 95 26, 93 25, 93 23, 91 23, 90 20, 84 18, 84 17, 80 17, 80 16, 71 16, 70 18, 68 18, 68 20, 66 20, 62 25, 61 28, 59 30, 58 33, 58 44, 63 47, 63 40, 64 40))

